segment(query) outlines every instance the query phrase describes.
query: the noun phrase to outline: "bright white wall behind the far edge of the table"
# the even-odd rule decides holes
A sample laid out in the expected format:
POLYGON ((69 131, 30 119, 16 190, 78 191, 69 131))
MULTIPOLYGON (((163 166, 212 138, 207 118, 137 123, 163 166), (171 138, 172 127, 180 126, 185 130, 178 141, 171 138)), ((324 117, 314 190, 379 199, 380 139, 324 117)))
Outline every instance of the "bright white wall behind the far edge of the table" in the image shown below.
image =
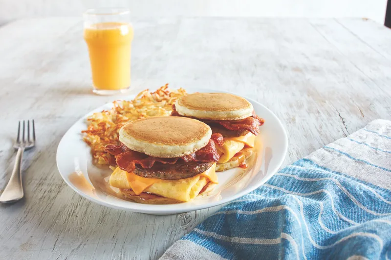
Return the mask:
POLYGON ((0 0, 0 23, 25 17, 81 16, 99 6, 134 16, 361 17, 384 23, 387 0, 0 0))

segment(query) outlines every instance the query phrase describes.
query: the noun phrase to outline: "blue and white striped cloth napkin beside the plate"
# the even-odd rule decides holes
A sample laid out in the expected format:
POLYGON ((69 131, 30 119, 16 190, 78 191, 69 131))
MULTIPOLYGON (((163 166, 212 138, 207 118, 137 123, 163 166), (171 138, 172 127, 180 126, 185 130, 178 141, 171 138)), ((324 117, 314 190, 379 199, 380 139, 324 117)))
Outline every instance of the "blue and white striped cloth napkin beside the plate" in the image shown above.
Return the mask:
POLYGON ((283 168, 160 259, 391 259, 391 121, 283 168))

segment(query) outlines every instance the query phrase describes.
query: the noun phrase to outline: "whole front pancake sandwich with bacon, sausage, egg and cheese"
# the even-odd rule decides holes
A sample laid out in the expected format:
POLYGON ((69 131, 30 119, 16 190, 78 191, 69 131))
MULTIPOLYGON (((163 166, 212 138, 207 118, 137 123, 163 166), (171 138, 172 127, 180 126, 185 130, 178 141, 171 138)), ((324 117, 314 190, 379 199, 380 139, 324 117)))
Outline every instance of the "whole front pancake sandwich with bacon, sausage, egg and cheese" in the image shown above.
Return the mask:
POLYGON ((111 186, 136 202, 169 204, 191 201, 217 184, 219 160, 211 128, 198 120, 151 117, 119 131, 121 145, 107 145, 117 168, 111 186))

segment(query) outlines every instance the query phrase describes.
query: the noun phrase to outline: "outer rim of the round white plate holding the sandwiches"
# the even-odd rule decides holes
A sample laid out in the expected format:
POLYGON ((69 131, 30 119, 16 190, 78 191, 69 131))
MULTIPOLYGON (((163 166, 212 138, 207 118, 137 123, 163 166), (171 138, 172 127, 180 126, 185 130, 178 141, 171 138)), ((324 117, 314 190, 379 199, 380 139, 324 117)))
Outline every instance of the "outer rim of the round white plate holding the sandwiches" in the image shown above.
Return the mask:
MULTIPOLYGON (((155 90, 157 88, 152 88, 152 91, 155 90)), ((105 201, 101 201, 101 200, 97 200, 93 197, 90 197, 88 196, 86 193, 83 193, 82 191, 79 191, 78 189, 76 189, 72 183, 69 181, 69 180, 66 180, 65 178, 65 174, 62 174, 61 173, 61 170, 60 170, 60 167, 59 167, 59 159, 58 159, 58 156, 59 156, 59 148, 60 148, 60 145, 61 143, 64 141, 64 137, 68 134, 68 132, 71 130, 71 128, 77 124, 80 120, 82 119, 85 119, 87 118, 88 116, 92 115, 93 113, 95 113, 94 111, 97 111, 97 110, 100 110, 101 108, 103 107, 106 107, 106 106, 110 106, 112 107, 112 102, 114 101, 110 101, 110 102, 107 102, 99 107, 96 107, 95 109, 92 109, 91 111, 89 111, 87 114, 85 114, 84 116, 80 117, 78 120, 76 120, 69 128, 68 130, 65 132, 65 134, 63 135, 63 137, 61 138, 58 146, 57 146, 57 149, 56 149, 56 166, 57 166, 57 170, 58 172, 60 173, 61 177, 63 178, 63 180, 65 181, 65 183, 73 190, 75 191, 77 194, 79 194, 80 196, 82 196, 83 198, 87 199, 87 200, 90 200, 90 201, 93 201, 99 205, 103 205, 103 206, 107 206, 107 207, 110 207, 110 208, 115 208, 115 209, 120 209, 120 210, 126 210, 126 211, 132 211, 132 212, 138 212, 138 213, 145 213, 145 214, 154 214, 154 215, 171 215, 171 214, 179 214, 179 213, 183 213, 183 212, 190 212, 190 211, 195 211, 195 210, 200 210, 200 209, 206 209, 206 208, 211 208, 211 207, 215 207, 215 206, 218 206, 218 205, 221 205, 221 204, 224 204, 224 203, 227 203, 227 202, 230 202, 230 201, 233 201, 233 200, 236 200, 252 191, 254 191, 255 189, 261 187, 262 184, 264 184, 266 181, 268 181, 272 176, 274 176, 278 170, 280 169, 283 161, 285 160, 285 157, 286 157, 286 154, 287 154, 287 151, 288 151, 288 136, 287 136, 287 132, 286 132, 286 129, 285 127, 283 126, 281 120, 269 109, 267 108, 266 106, 264 106, 263 104, 261 104, 260 102, 256 101, 256 100, 253 100, 251 98, 248 98, 246 96, 243 96, 243 95, 239 95, 239 94, 236 94, 236 93, 232 93, 232 92, 229 92, 229 91, 219 91, 219 90, 216 90, 216 89, 207 89, 207 88, 194 88, 194 87, 188 87, 187 89, 185 89, 186 91, 187 90, 192 90, 192 89, 197 89, 197 91, 195 92, 200 92, 200 90, 205 90, 206 92, 224 92, 224 93, 230 93, 230 94, 234 94, 234 95, 238 95, 240 97, 243 97, 247 100, 249 100, 251 103, 257 103, 258 105, 260 105, 263 109, 267 110, 276 120, 277 120, 277 123, 279 124, 279 126, 281 127, 282 129, 282 132, 283 132, 283 135, 284 135, 284 141, 283 141, 283 144, 284 144, 284 147, 283 147, 283 155, 282 157, 280 158, 280 160, 278 161, 278 163, 276 163, 276 166, 273 167, 272 169, 268 169, 269 172, 272 172, 272 174, 270 174, 269 176, 265 176, 265 178, 262 179, 262 183, 257 183, 256 185, 254 186, 250 186, 250 187, 246 187, 244 188, 243 190, 239 191, 237 194, 235 195, 232 195, 232 196, 229 196, 228 198, 223 198, 221 200, 217 200, 217 201, 212 201, 212 202, 208 202, 206 204, 195 204, 194 206, 190 207, 190 208, 186 208, 185 211, 181 211, 180 209, 175 209, 175 208, 167 208, 164 212, 161 211, 161 210, 154 210, 153 208, 146 208, 145 210, 144 209, 133 209, 133 208, 129 208, 129 207, 123 207, 123 206, 118 206, 118 205, 115 205, 115 204, 112 204, 112 203, 108 203, 108 202, 105 202, 105 201), (263 181, 264 180, 264 181, 263 181), (259 184, 259 185, 258 185, 259 184)), ((151 91, 151 89, 148 89, 148 91, 151 91)), ((193 92, 191 92, 193 93, 193 92)), ((133 99, 137 94, 130 94, 130 95, 126 95, 126 96, 123 96, 121 97, 120 100, 129 100, 130 98, 133 99)), ((117 99, 118 100, 118 99, 117 99)), ((134 202, 136 203, 136 202, 134 202)), ((140 204, 140 203, 139 203, 140 204)), ((142 204, 142 203, 141 203, 142 204)), ((180 205, 181 203, 178 203, 178 205, 180 205)), ((154 206, 154 204, 142 204, 142 205, 148 205, 150 207, 154 206)), ((147 207, 148 207, 147 206, 147 207)))

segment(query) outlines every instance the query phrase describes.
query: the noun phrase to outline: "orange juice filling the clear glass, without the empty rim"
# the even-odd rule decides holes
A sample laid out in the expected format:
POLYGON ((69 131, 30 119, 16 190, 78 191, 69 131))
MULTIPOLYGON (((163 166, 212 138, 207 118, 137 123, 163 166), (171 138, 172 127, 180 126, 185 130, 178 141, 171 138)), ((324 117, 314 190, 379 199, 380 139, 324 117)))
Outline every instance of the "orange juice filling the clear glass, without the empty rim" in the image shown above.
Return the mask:
POLYGON ((133 28, 129 23, 103 22, 84 29, 96 89, 130 86, 130 51, 133 28))

